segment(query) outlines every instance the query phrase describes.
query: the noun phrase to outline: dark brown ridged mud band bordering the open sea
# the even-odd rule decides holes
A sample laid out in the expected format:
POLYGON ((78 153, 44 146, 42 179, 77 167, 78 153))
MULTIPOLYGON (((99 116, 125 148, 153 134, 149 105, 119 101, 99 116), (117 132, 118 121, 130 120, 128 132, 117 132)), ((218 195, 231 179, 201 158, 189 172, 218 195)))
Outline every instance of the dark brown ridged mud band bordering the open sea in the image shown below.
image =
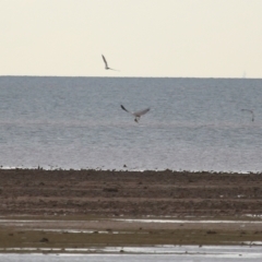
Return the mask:
POLYGON ((262 214, 262 174, 0 169, 0 214, 262 214))

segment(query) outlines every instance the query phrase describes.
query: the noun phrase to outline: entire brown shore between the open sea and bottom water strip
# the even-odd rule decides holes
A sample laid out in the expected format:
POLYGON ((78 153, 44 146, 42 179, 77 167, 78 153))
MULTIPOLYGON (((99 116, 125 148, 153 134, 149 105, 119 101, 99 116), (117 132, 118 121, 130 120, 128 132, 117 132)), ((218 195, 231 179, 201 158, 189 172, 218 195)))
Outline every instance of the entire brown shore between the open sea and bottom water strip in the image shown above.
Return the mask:
POLYGON ((259 242, 262 175, 1 169, 0 215, 1 251, 259 242))

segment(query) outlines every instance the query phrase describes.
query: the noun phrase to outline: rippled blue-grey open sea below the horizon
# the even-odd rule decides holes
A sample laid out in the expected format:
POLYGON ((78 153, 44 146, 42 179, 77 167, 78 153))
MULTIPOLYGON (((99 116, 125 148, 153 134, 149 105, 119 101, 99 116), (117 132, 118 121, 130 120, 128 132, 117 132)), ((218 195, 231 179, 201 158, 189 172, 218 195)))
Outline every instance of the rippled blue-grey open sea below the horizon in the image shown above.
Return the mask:
POLYGON ((261 172, 262 80, 0 76, 0 148, 2 168, 261 172))

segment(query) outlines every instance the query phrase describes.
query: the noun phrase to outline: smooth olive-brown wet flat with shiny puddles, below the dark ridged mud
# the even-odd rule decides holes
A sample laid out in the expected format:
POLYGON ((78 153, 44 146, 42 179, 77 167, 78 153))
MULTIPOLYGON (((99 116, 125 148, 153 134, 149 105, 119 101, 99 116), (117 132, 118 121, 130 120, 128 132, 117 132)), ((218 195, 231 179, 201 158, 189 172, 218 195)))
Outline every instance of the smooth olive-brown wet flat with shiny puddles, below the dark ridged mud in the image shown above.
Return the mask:
POLYGON ((104 253, 140 247, 262 246, 262 219, 119 219, 92 216, 0 218, 0 253, 104 253))

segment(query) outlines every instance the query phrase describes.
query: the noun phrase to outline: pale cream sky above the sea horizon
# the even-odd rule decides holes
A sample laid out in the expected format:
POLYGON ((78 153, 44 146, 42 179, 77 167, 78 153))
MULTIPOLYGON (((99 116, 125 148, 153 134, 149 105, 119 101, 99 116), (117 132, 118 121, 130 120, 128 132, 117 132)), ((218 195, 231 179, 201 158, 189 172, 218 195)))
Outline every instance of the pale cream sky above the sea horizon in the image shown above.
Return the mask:
POLYGON ((0 3, 0 75, 262 78, 262 0, 0 3))

